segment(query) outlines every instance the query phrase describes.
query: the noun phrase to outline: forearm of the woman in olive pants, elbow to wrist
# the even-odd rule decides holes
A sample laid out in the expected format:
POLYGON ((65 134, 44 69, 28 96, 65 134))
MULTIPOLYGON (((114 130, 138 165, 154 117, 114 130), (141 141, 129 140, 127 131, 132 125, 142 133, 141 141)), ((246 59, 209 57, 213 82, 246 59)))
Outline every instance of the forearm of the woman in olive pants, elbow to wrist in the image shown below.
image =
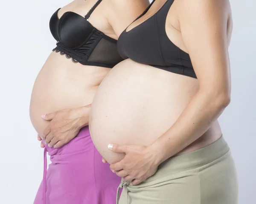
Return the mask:
POLYGON ((162 163, 202 136, 228 104, 225 94, 198 91, 175 124, 150 145, 156 162, 162 163))

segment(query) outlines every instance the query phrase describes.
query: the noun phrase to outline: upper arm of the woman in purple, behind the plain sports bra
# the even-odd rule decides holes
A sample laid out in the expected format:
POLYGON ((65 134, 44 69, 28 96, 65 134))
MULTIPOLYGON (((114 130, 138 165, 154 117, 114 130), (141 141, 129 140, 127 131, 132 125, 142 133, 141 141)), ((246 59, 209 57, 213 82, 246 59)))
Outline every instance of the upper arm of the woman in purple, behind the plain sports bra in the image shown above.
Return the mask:
POLYGON ((108 22, 116 36, 124 31, 149 5, 149 0, 110 0, 108 22))

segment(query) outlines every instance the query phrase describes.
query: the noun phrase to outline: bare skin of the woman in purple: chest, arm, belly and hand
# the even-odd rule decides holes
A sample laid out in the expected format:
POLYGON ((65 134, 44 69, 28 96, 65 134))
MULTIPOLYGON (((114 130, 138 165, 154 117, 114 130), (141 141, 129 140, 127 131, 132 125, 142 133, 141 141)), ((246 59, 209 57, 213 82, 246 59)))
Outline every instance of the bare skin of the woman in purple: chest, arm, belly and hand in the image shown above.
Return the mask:
MULTIPOLYGON (((61 8, 58 17, 67 11, 84 16, 95 3, 96 0, 86 0, 86 3, 75 0, 61 8)), ((91 14, 89 22, 109 37, 117 39, 148 4, 148 0, 103 0, 91 14)), ((45 140, 49 147, 58 148, 70 142, 82 127, 88 125, 93 96, 109 71, 109 68, 74 64, 53 52, 32 91, 30 116, 38 132, 38 140, 45 140), (87 82, 84 80, 84 77, 88 78, 86 76, 90 77, 87 82), (65 94, 60 94, 64 91, 65 94)), ((43 142, 41 147, 44 147, 43 142)))

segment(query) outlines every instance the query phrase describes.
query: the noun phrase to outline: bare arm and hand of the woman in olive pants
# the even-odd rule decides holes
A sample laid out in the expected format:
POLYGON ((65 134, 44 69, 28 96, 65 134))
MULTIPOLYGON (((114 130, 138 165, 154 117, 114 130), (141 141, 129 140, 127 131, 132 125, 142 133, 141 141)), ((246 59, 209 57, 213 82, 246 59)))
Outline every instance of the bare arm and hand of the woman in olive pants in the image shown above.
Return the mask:
POLYGON ((176 13, 168 15, 167 22, 182 35, 181 45, 192 60, 198 90, 174 124, 150 145, 108 146, 113 152, 125 153, 124 158, 111 164, 110 168, 133 185, 152 176, 159 164, 200 139, 230 103, 228 46, 232 17, 229 2, 179 0, 175 1, 174 8, 176 13))

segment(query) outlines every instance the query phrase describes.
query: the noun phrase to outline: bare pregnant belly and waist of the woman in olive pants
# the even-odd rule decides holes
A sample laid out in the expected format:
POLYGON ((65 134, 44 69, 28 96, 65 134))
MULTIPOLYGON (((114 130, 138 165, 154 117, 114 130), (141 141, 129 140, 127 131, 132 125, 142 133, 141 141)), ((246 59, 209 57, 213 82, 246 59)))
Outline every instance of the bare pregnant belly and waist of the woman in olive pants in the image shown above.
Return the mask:
MULTIPOLYGON (((93 99, 89 126, 96 148, 115 163, 124 155, 108 150, 108 144, 151 144, 175 123, 197 91, 197 79, 126 59, 110 71, 93 99)), ((180 154, 220 136, 216 121, 180 154)))

